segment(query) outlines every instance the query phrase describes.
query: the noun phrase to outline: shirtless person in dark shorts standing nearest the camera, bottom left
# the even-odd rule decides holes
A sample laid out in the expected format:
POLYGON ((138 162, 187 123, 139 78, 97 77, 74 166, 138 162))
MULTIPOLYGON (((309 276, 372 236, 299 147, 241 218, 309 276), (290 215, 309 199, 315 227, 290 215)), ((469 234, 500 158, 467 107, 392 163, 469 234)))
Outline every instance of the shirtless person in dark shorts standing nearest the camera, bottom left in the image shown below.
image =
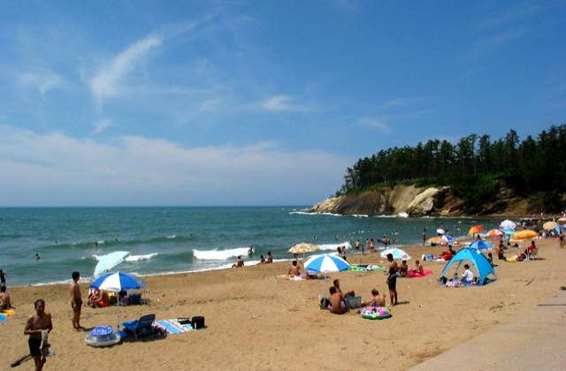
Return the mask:
POLYGON ((45 364, 45 353, 43 349, 47 348, 47 334, 53 329, 51 322, 51 314, 45 312, 45 301, 37 299, 34 302, 35 313, 32 314, 26 322, 24 335, 29 335, 27 344, 29 345, 29 354, 35 362, 35 371, 41 371, 45 364))

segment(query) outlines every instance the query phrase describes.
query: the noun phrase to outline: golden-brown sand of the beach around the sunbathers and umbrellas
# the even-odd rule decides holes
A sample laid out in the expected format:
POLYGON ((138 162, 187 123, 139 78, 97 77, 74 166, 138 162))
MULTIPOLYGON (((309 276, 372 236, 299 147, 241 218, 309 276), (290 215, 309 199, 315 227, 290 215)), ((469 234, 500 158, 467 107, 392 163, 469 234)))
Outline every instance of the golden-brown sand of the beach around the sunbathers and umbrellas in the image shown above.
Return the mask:
MULTIPOLYGON (((484 287, 440 286, 436 278, 444 264, 425 261, 424 268, 432 269, 432 276, 399 278, 400 305, 394 307, 393 318, 385 321, 363 320, 355 312, 330 314, 317 304, 318 294, 326 294, 334 278, 340 278, 343 290, 355 290, 364 299, 372 288, 387 293, 383 272, 346 271, 329 275, 325 281, 291 282, 277 277, 287 273, 290 263, 285 262, 149 276, 142 292, 149 304, 121 307, 120 320, 149 313, 155 313, 158 320, 203 315, 207 328, 111 348, 89 347, 85 333, 73 329, 68 285, 9 286, 16 314, 0 325, 0 369, 27 354, 23 329, 38 298, 45 299, 54 326, 50 343, 56 355, 48 359, 45 369, 406 369, 495 325, 536 316, 537 302, 566 283, 562 262, 566 251, 558 248, 556 239, 537 240, 537 245, 542 260, 495 261, 498 279, 484 287)), ((409 267, 421 254, 440 253, 440 247, 429 246, 406 250, 413 256, 409 267)), ((516 254, 516 249, 509 254, 516 254)), ((379 254, 348 260, 385 266, 379 254)), ((81 284, 81 290, 86 300, 88 284, 81 284)), ((116 307, 85 307, 81 324, 115 325, 116 313, 116 307)), ((18 368, 32 367, 33 361, 27 361, 18 368)))

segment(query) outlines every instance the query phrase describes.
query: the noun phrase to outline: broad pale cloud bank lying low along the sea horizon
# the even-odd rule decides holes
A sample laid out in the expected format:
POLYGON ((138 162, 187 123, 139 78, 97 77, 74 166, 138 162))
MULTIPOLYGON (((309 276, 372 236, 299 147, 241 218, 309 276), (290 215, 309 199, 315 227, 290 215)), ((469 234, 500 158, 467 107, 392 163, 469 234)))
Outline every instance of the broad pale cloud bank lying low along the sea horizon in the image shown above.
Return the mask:
POLYGON ((276 143, 111 144, 0 125, 0 205, 304 204, 340 187, 351 159, 276 143))

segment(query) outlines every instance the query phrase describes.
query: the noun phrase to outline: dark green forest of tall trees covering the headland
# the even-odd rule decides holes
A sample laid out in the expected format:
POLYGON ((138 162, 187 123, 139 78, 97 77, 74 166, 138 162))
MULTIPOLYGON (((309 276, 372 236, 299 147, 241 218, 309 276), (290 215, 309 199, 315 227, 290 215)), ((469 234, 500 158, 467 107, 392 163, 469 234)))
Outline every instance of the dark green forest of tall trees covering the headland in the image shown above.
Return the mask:
POLYGON ((455 144, 428 140, 382 149, 348 167, 344 180, 337 195, 399 183, 451 186, 473 211, 506 187, 541 210, 558 211, 566 193, 566 125, 524 140, 509 130, 497 140, 470 134, 455 144))

